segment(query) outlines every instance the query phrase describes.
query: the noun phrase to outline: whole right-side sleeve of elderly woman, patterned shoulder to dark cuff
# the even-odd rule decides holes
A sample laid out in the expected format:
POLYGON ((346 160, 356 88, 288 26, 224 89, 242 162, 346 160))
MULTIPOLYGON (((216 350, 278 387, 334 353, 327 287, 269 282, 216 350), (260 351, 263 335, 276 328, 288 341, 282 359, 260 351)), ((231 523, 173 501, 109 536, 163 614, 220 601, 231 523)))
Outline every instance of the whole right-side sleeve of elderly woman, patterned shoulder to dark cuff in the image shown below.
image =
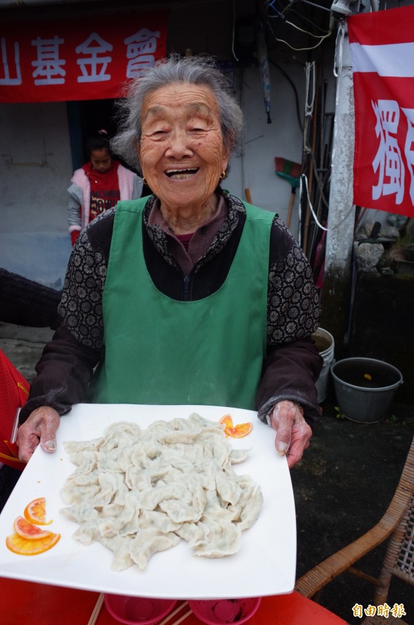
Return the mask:
POLYGON ((315 382, 324 363, 311 335, 321 309, 311 267, 283 222, 270 235, 268 344, 257 393, 259 419, 283 399, 296 401, 313 427, 321 416, 315 382))

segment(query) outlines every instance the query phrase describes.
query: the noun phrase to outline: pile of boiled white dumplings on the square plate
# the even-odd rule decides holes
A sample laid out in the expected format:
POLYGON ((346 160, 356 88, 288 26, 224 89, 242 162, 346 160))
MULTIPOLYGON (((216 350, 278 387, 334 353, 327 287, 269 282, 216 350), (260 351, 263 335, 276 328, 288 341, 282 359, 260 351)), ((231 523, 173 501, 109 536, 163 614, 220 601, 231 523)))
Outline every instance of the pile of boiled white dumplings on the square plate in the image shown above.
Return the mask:
POLYGON ((115 571, 132 564, 144 570, 180 539, 195 555, 236 553, 263 495, 233 470, 247 450, 232 449, 223 427, 193 413, 145 430, 121 421, 101 438, 64 443, 77 466, 61 491, 69 506, 61 512, 79 524, 73 537, 112 550, 115 571))

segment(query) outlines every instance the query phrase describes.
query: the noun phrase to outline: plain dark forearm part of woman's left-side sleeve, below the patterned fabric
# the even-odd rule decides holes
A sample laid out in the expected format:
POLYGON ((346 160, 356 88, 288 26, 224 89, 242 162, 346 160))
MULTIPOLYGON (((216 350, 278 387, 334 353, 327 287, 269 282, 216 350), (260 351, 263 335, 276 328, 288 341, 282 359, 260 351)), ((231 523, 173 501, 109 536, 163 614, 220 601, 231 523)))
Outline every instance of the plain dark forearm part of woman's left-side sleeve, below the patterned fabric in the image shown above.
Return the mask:
POLYGON ((100 357, 99 351, 83 346, 60 326, 36 365, 37 377, 30 387, 28 401, 21 408, 19 422, 26 421, 39 406, 51 406, 59 415, 68 413, 72 404, 79 404, 85 397, 100 357))

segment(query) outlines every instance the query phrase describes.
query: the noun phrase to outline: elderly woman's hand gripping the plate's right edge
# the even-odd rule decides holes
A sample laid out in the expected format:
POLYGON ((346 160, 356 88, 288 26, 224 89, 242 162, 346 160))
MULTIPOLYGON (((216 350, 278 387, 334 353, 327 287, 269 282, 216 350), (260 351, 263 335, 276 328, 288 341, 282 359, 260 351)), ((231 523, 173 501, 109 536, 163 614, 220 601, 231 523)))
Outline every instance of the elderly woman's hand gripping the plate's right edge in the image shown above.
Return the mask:
POLYGON ((275 448, 280 455, 286 455, 288 467, 292 468, 302 459, 304 450, 312 437, 302 410, 295 401, 279 401, 270 413, 270 422, 276 430, 275 448))

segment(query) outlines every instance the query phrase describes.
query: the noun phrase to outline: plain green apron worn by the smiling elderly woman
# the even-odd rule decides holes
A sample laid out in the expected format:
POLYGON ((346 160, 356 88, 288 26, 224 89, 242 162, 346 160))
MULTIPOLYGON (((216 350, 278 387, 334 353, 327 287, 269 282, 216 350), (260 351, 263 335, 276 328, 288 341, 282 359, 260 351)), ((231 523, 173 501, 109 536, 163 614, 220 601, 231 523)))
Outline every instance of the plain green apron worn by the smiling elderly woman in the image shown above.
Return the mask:
POLYGON ((146 268, 147 199, 117 204, 103 289, 105 357, 90 399, 254 410, 266 355, 273 213, 246 204, 246 224, 224 284, 204 299, 177 301, 155 287, 146 268))

